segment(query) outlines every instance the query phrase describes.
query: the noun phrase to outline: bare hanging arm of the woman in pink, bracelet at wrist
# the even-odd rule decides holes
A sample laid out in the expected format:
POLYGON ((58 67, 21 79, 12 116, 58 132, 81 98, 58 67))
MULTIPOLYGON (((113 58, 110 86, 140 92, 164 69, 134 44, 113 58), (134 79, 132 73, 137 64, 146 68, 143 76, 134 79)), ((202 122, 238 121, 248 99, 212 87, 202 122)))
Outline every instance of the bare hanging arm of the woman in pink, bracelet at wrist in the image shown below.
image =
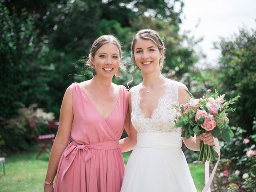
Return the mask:
MULTIPOLYGON (((62 105, 60 108, 60 124, 57 135, 52 145, 50 154, 48 170, 46 174, 46 181, 53 182, 57 172, 58 163, 62 152, 70 142, 71 128, 73 121, 73 100, 72 100, 72 86, 69 86, 64 94, 62 105)), ((44 185, 44 192, 53 192, 51 185, 44 185)))

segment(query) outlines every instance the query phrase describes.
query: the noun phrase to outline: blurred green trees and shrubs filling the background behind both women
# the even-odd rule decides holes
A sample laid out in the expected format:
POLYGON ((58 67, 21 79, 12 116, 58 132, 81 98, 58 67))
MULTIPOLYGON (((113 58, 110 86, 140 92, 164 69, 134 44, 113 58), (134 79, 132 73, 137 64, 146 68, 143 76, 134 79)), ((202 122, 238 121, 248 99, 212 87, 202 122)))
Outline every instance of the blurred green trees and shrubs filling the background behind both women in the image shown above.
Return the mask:
MULTIPOLYGON (((25 117, 36 118, 42 132, 47 131, 43 121, 58 119, 66 88, 92 78, 81 58, 98 36, 113 34, 122 42, 122 62, 128 69, 113 82, 126 86, 131 79, 130 42, 142 28, 152 28, 164 38, 164 76, 183 82, 196 97, 208 88, 227 99, 241 96, 230 124, 234 132, 243 130, 237 135, 250 138, 253 146, 256 30, 240 28, 231 38, 220 39, 215 43, 222 53, 218 66, 197 68, 201 54, 196 54, 195 46, 202 39, 180 34, 183 6, 182 0, 0 0, 0 153, 35 144, 25 117)), ((133 76, 130 86, 142 80, 138 69, 133 76)), ((239 146, 239 153, 230 152, 233 164, 238 163, 236 157, 244 156, 246 147, 239 146)), ((192 161, 193 154, 186 153, 192 161)))

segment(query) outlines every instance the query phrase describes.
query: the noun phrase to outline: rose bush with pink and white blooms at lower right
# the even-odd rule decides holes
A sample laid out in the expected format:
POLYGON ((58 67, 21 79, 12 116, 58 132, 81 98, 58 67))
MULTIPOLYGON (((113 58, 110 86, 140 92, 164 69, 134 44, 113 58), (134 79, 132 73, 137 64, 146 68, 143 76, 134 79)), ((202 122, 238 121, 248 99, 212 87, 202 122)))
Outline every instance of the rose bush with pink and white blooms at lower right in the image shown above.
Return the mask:
POLYGON ((235 136, 231 142, 220 142, 222 157, 225 158, 220 160, 214 179, 214 191, 255 192, 255 141, 242 137, 246 130, 239 127, 232 129, 235 136))

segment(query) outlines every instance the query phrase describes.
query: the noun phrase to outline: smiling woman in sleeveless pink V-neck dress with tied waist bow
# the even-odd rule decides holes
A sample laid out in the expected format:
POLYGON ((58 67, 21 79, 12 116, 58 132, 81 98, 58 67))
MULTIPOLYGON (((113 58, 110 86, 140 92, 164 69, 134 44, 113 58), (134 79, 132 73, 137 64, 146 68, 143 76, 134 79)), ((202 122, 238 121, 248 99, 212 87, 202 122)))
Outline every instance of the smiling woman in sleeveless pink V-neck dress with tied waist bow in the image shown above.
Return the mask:
POLYGON ((112 35, 92 44, 87 65, 94 76, 71 84, 64 94, 44 192, 120 192, 124 161, 119 139, 128 93, 112 78, 120 76, 121 57, 120 43, 112 35))

